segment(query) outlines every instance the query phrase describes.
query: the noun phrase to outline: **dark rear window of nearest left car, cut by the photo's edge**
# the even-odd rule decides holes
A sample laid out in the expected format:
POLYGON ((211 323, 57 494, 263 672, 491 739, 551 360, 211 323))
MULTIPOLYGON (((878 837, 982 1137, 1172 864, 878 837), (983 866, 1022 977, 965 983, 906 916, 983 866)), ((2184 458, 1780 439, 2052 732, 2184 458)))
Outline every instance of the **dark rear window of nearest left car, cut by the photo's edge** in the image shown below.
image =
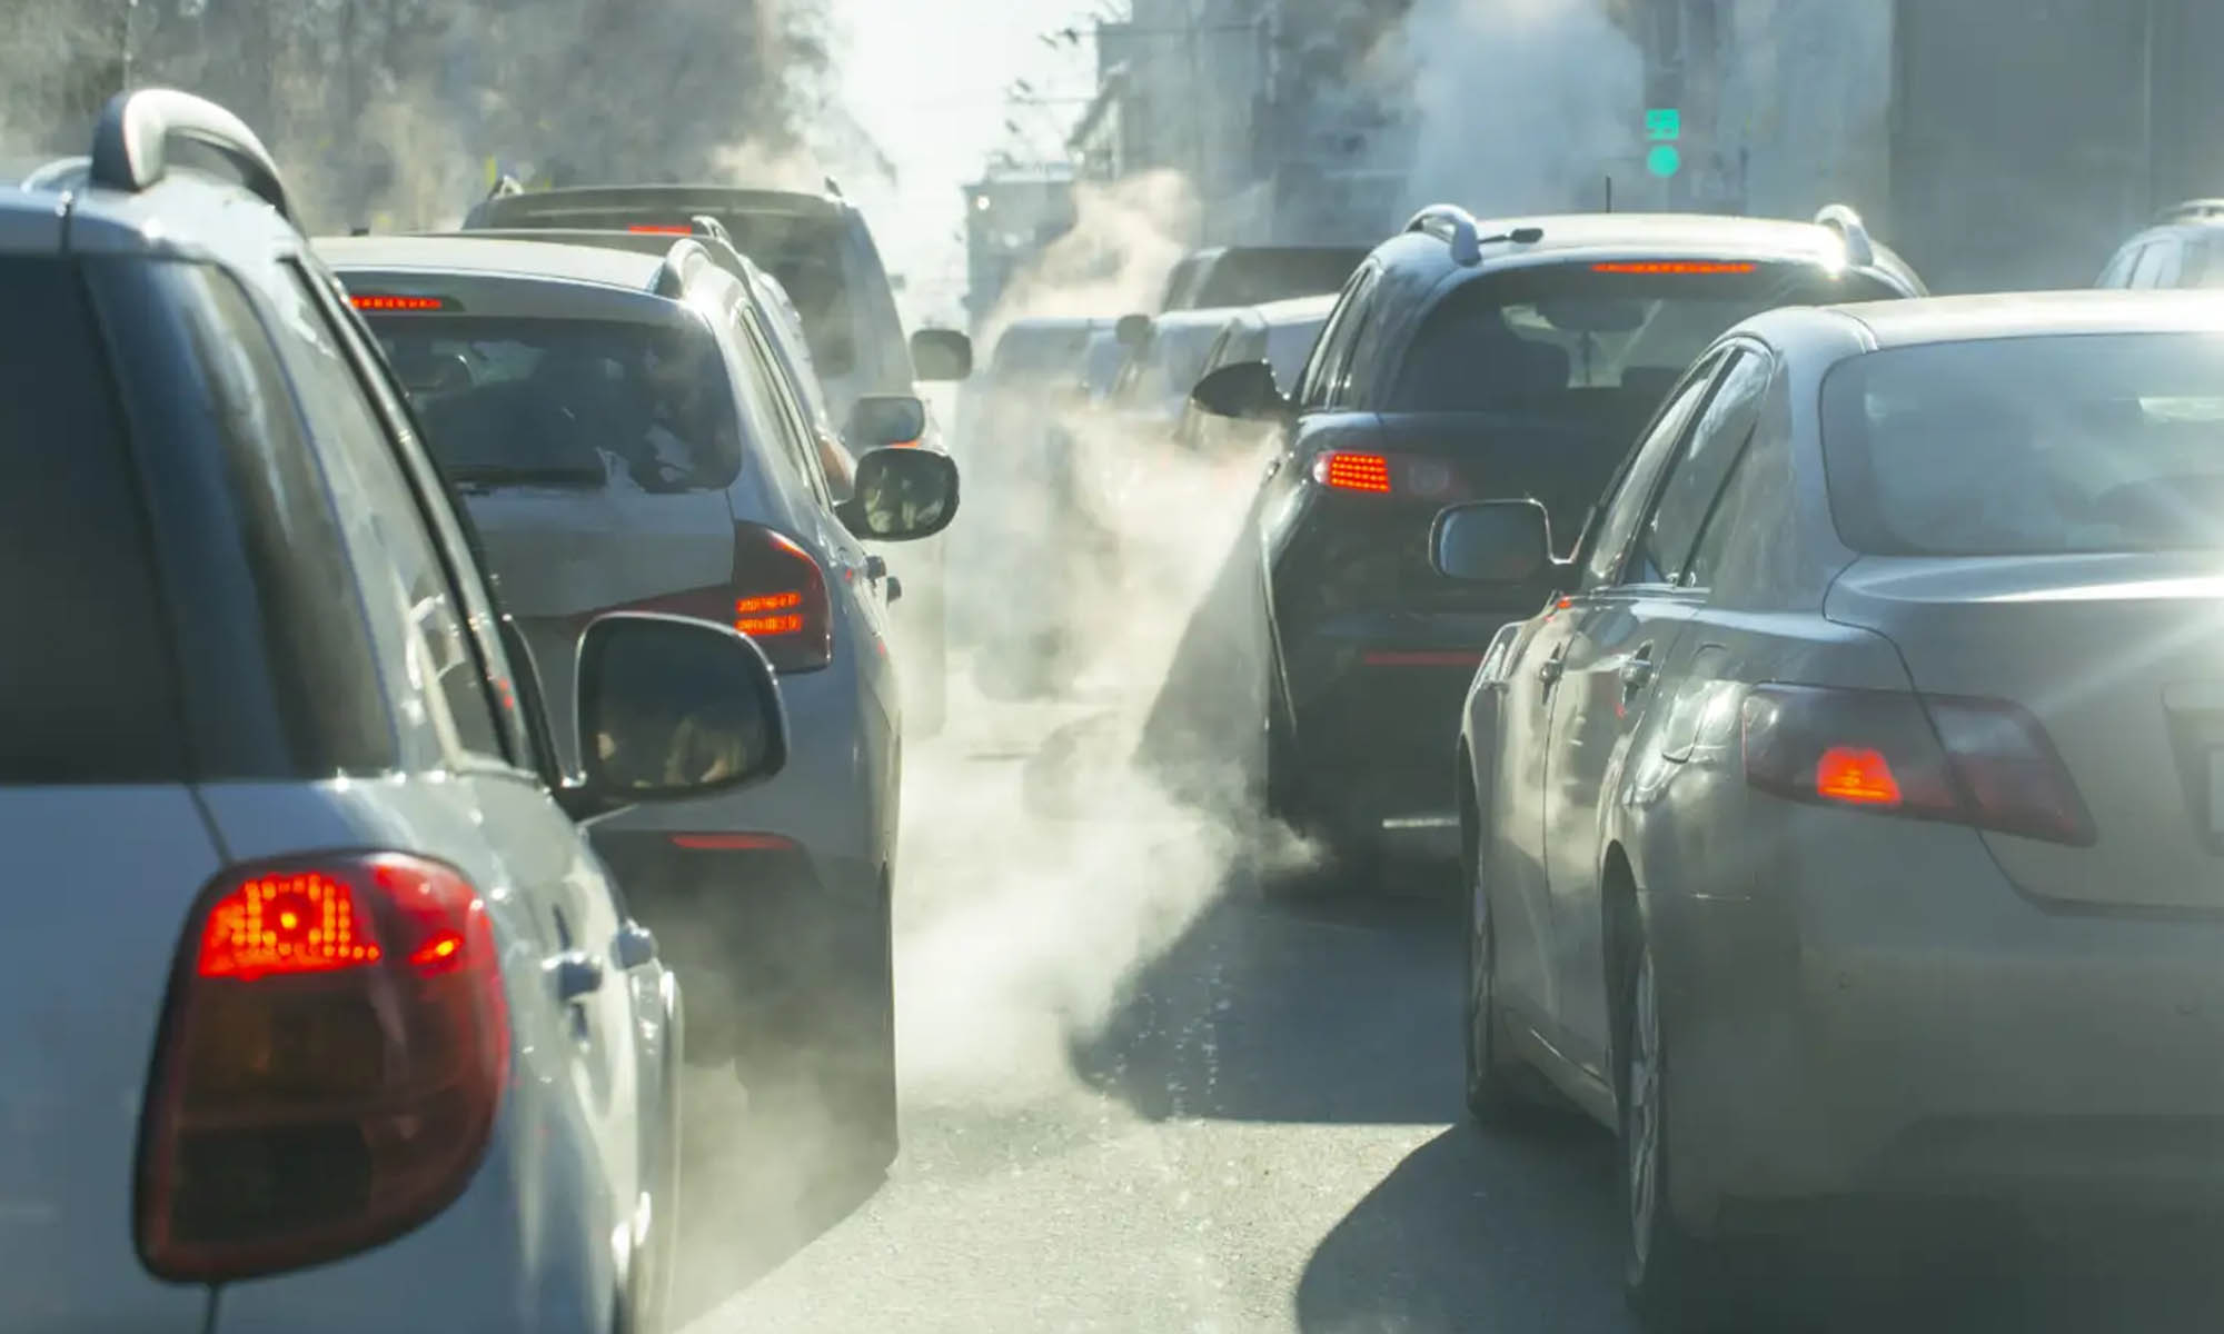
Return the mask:
POLYGON ((0 260, 0 783, 185 774, 153 549, 76 265, 0 260))

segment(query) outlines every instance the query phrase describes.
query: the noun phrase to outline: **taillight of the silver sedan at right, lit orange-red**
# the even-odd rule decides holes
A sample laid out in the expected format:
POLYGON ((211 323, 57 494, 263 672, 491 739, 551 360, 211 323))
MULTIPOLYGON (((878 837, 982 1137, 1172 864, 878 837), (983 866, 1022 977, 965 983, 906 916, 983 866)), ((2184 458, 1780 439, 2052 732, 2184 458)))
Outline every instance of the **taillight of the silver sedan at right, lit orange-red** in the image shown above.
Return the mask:
POLYGON ((2006 700, 1764 685, 1746 696, 1744 763, 1793 800, 2093 843, 2046 729, 2006 700))

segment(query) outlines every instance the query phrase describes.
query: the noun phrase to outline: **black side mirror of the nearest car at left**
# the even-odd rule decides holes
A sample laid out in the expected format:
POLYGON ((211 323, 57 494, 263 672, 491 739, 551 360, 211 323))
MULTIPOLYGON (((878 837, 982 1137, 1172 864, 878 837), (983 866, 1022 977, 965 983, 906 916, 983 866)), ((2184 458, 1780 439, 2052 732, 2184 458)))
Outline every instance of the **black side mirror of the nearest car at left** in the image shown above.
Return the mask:
POLYGON ((616 611, 578 640, 585 785, 574 814, 758 783, 787 765, 772 663, 707 620, 616 611))

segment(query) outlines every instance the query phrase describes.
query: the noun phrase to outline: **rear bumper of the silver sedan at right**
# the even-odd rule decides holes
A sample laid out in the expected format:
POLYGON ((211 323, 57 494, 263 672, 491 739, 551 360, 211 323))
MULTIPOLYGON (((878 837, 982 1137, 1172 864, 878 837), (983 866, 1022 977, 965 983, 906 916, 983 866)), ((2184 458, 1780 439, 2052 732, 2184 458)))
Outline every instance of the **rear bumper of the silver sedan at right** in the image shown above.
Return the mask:
POLYGON ((2224 1207, 2224 920, 2046 909, 1948 825, 1755 800, 1737 843, 1646 894, 1684 1218, 2224 1207))

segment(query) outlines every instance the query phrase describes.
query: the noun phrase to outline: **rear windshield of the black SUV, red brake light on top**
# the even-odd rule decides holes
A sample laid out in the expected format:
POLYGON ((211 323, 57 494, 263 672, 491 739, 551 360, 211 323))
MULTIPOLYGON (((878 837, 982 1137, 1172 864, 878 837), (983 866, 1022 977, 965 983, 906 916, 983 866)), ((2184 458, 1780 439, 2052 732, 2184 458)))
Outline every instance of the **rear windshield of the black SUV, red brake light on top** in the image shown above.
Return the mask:
POLYGON ((1390 409, 1635 414, 1644 425, 1730 325, 1784 305, 1893 296, 1875 278, 1815 265, 1637 260, 1512 269, 1468 282, 1430 311, 1390 409))

